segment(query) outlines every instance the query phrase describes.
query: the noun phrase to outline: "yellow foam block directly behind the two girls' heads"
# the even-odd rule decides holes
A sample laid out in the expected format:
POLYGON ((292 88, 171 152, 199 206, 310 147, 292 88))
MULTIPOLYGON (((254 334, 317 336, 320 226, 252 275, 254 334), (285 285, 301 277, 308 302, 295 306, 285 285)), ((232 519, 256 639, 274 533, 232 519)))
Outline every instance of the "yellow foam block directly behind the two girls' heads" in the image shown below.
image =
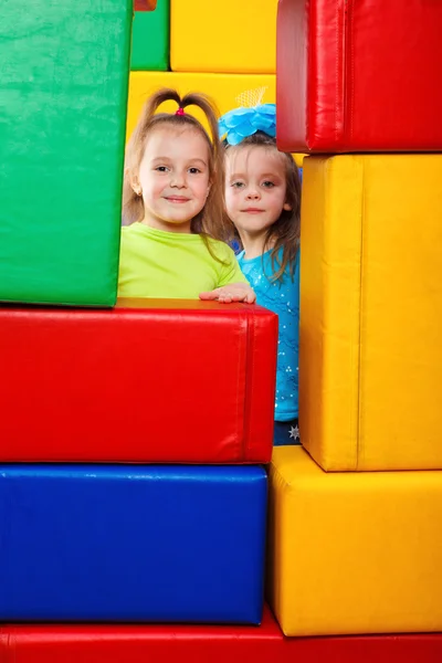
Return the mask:
MULTIPOLYGON (((276 81, 274 75, 265 74, 177 74, 175 72, 131 72, 129 80, 129 101, 127 114, 127 137, 137 123, 139 112, 147 97, 159 87, 173 87, 182 95, 188 92, 203 92, 218 106, 220 114, 238 106, 236 97, 244 90, 265 87, 263 104, 276 101, 276 81)), ((166 112, 173 112, 173 103, 165 104, 166 112)), ((161 107, 162 109, 162 107, 161 107)), ((189 108, 208 129, 203 114, 198 108, 189 108)), ((293 155, 296 164, 303 165, 304 155, 293 155)))

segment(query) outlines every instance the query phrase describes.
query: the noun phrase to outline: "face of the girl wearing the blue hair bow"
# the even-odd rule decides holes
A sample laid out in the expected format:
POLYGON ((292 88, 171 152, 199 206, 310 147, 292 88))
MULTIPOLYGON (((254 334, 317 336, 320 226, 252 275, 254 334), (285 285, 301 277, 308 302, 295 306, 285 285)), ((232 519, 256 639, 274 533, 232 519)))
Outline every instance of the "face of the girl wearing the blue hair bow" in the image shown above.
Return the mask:
POLYGON ((291 209, 283 156, 259 145, 229 149, 225 204, 240 236, 264 236, 282 210, 291 209))

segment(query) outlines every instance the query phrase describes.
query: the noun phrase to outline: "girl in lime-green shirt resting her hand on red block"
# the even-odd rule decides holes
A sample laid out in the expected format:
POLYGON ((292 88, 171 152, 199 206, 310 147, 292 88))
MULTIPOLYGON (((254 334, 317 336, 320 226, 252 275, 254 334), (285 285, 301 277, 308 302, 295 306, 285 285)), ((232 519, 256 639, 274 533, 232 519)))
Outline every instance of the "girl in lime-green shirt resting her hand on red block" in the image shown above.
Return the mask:
POLYGON ((203 95, 160 90, 146 103, 126 151, 120 297, 255 301, 232 250, 223 212, 223 155, 203 95), (175 114, 158 113, 175 101, 175 114), (186 113, 199 106, 211 128, 186 113))

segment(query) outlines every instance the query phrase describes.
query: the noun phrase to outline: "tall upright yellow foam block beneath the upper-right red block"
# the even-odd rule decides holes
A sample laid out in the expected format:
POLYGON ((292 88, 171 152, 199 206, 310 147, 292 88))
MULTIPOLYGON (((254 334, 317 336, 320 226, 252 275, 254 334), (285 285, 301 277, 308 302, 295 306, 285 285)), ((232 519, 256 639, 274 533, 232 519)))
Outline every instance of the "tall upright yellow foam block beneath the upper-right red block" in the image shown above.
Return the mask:
POLYGON ((299 429, 322 467, 442 469, 442 155, 304 161, 299 429))

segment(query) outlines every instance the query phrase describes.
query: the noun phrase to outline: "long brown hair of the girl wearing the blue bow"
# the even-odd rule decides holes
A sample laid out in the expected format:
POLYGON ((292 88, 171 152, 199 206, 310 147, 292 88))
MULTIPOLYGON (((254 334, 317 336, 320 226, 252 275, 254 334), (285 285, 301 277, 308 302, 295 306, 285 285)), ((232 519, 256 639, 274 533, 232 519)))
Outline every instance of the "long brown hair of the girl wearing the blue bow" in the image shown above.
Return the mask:
MULTIPOLYGON (((224 143, 224 146, 229 152, 238 151, 246 147, 265 147, 267 149, 276 150, 284 159, 286 202, 290 203, 292 209, 282 210, 277 221, 269 228, 264 242, 264 253, 269 250, 269 246, 273 244, 270 255, 274 274, 272 275, 271 281, 282 281, 287 265, 291 277, 293 278, 301 235, 301 178, 295 160, 291 154, 280 152, 276 147, 275 138, 272 138, 263 131, 256 131, 255 134, 252 134, 252 136, 248 136, 239 145, 230 146, 224 143), (281 249, 282 256, 280 259, 278 253, 281 249)), ((234 231, 234 236, 241 244, 241 238, 236 230, 234 231)), ((231 236, 230 239, 233 238, 231 236)))

